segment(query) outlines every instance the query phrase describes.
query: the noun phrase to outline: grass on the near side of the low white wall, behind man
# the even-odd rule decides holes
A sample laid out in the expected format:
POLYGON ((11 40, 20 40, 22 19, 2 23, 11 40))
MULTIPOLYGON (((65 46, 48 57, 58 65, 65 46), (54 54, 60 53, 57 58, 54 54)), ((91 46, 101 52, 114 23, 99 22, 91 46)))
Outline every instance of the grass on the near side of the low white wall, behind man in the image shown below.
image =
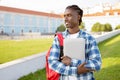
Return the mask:
MULTIPOLYGON (((99 43, 102 69, 95 72, 96 80, 120 80, 120 35, 99 43)), ((45 69, 21 77, 19 80, 46 80, 45 69)))

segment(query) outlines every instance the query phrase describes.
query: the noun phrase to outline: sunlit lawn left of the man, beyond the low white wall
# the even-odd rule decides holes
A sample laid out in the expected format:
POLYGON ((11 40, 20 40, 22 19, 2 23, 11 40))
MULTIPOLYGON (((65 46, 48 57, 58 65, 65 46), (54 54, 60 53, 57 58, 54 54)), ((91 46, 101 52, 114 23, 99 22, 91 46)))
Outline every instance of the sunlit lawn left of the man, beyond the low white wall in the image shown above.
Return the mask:
POLYGON ((49 49, 52 38, 32 40, 0 40, 0 64, 49 49))

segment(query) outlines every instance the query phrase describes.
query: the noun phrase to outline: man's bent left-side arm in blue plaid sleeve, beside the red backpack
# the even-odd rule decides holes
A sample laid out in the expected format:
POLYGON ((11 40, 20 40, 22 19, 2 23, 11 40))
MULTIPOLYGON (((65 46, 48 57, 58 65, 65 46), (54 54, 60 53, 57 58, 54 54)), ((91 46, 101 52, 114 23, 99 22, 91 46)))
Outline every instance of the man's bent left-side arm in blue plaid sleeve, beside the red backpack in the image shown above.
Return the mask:
POLYGON ((50 51, 50 56, 48 58, 49 67, 54 71, 65 74, 65 75, 77 75, 77 67, 66 66, 59 61, 60 56, 60 46, 57 36, 53 41, 53 45, 50 51))

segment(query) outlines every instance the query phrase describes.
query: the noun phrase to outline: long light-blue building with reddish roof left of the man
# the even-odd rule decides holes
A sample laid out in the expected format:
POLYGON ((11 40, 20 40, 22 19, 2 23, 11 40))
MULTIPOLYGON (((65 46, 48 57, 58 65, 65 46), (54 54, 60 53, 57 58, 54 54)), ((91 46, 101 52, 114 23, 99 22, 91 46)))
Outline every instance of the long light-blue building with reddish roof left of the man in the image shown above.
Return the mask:
POLYGON ((0 6, 0 34, 55 33, 61 15, 0 6))

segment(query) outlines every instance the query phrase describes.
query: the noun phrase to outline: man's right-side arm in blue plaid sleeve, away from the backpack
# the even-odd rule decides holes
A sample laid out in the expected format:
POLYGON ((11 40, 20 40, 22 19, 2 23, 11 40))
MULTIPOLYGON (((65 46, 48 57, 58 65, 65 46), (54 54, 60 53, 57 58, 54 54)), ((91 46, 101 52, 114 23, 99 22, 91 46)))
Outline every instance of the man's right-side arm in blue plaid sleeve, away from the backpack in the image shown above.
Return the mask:
POLYGON ((91 40, 89 50, 87 53, 88 59, 86 60, 85 67, 92 70, 100 70, 101 68, 101 55, 95 39, 91 40))

